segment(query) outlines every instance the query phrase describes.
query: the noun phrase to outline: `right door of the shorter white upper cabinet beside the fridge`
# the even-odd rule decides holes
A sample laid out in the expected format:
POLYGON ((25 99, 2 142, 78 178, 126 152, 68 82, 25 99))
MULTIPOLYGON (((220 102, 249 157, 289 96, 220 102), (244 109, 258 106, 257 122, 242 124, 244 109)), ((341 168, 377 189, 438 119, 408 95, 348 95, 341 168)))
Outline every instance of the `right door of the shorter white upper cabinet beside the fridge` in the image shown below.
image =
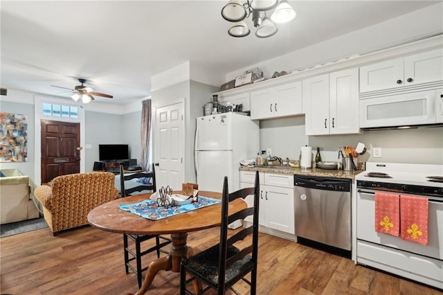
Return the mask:
POLYGON ((302 82, 274 87, 274 116, 302 114, 302 82))

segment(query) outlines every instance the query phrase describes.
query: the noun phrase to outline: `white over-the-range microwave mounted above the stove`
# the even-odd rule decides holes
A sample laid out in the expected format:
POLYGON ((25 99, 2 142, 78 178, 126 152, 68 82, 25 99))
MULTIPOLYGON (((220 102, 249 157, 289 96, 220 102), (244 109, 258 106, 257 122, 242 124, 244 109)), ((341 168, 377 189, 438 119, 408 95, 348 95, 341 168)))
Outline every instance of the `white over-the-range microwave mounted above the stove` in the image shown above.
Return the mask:
POLYGON ((432 89, 360 98, 360 128, 443 123, 442 96, 442 89, 432 89))

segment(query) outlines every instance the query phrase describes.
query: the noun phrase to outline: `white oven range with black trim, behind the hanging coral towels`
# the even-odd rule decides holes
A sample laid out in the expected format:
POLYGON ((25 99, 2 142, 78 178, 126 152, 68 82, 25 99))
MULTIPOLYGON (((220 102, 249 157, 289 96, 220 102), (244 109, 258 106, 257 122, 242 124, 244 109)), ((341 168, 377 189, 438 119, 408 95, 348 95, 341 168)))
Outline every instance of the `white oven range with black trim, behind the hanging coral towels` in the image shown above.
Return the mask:
POLYGON ((443 165, 366 163, 356 175, 356 262, 443 289, 443 165), (374 230, 376 191, 428 198, 428 245, 374 230))

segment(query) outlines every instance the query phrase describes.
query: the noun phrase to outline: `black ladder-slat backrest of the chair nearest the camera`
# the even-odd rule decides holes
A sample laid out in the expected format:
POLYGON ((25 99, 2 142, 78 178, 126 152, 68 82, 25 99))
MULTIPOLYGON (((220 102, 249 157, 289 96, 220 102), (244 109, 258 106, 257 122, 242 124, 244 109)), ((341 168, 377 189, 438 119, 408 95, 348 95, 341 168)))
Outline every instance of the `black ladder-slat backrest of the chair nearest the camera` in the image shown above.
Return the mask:
MULTIPOLYGON (((260 180, 258 177, 258 171, 255 172, 255 183, 253 188, 242 188, 233 193, 228 193, 228 177, 224 177, 223 184, 223 196, 221 201, 221 229, 220 229, 220 251, 219 251, 219 278, 218 286, 224 288, 225 272, 226 268, 230 267, 235 261, 242 260, 244 256, 252 253, 252 262, 257 266, 257 252, 258 252, 258 212, 259 212, 259 191, 260 180), (253 207, 248 207, 228 215, 229 202, 233 202, 235 199, 242 198, 245 199, 248 195, 253 195, 253 207), (235 220, 243 220, 245 217, 253 215, 253 224, 243 228, 242 230, 235 233, 235 235, 228 238, 228 224, 234 222, 235 220), (244 240, 248 235, 252 234, 251 244, 244 247, 241 251, 231 256, 226 260, 226 253, 228 247, 233 245, 235 242, 244 240)), ((224 290, 222 293, 224 294, 224 290)))

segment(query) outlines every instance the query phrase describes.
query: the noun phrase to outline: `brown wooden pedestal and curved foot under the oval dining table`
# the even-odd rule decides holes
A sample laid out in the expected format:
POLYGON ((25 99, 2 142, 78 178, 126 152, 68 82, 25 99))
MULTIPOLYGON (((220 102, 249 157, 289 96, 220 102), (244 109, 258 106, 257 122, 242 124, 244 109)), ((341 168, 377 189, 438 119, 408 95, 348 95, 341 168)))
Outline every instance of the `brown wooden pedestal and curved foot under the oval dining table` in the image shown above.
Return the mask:
POLYGON ((172 247, 170 254, 166 257, 158 258, 150 263, 149 267, 147 267, 143 285, 141 286, 141 289, 138 290, 136 295, 145 294, 147 289, 150 287, 152 280, 154 280, 157 272, 161 270, 180 272, 181 260, 188 257, 188 255, 192 255, 192 249, 186 246, 187 239, 188 233, 173 233, 171 235, 172 247))

